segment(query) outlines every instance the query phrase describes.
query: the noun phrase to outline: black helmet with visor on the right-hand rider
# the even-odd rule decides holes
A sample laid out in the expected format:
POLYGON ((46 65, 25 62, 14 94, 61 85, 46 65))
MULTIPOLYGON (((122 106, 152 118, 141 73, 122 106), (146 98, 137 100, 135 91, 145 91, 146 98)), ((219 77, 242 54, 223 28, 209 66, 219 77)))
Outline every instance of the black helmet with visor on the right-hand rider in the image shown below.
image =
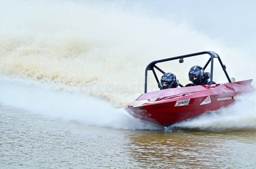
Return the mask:
POLYGON ((204 69, 201 66, 193 66, 188 72, 189 81, 193 82, 196 85, 204 78, 204 69), (194 77, 198 77, 194 80, 194 77))

